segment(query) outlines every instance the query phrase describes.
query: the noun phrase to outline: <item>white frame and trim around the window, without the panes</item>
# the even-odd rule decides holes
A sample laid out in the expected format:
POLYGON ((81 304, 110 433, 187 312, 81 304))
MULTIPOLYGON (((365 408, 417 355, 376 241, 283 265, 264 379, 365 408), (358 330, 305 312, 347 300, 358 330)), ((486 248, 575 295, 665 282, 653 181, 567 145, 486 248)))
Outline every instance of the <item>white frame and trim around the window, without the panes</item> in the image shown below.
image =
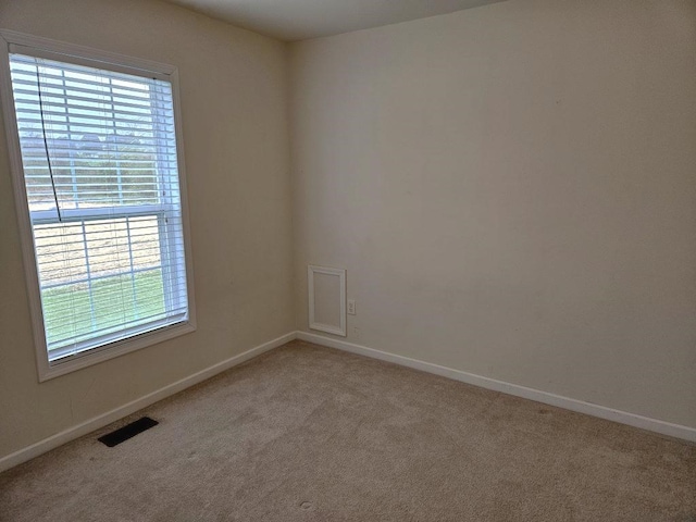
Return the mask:
MULTIPOLYGON (((141 348, 162 343, 196 330, 196 306, 194 294, 194 266, 190 252, 190 229, 188 223, 188 201, 186 189, 186 172, 184 161, 183 133, 181 122, 181 102, 178 90, 178 71, 173 65, 152 62, 138 58, 125 57, 108 51, 66 44, 48 38, 0 29, 0 92, 2 111, 4 114, 5 132, 8 136, 8 149, 10 167, 14 188, 15 209, 20 227, 22 254, 28 301, 32 314, 34 332, 34 345, 36 349, 36 362, 39 382, 64 375, 66 373, 113 359, 141 348), (92 67, 108 69, 139 76, 158 77, 172 85, 172 99, 174 104, 174 127, 176 134, 176 150, 179 177, 179 198, 182 206, 182 226, 184 236, 184 257, 186 268, 186 289, 188 297, 187 320, 174 325, 164 326, 130 338, 104 344, 98 348, 87 350, 76 356, 58 359, 49 362, 46 332, 44 325, 44 312, 41 308, 41 295, 36 263, 32 216, 27 204, 27 195, 24 181, 24 169, 20 137, 17 130, 14 98, 12 96, 12 78, 10 75, 10 46, 24 46, 32 48, 34 54, 41 53, 45 58, 76 63, 92 67)), ((140 209, 147 211, 148 209, 140 209)), ((54 213, 54 212, 50 212, 54 213)), ((67 211, 70 213, 70 211, 67 211)), ((137 212, 136 212, 137 213, 137 212)), ((130 213, 128 212, 128 215, 130 213)), ((117 216, 116 216, 117 217, 117 216)))

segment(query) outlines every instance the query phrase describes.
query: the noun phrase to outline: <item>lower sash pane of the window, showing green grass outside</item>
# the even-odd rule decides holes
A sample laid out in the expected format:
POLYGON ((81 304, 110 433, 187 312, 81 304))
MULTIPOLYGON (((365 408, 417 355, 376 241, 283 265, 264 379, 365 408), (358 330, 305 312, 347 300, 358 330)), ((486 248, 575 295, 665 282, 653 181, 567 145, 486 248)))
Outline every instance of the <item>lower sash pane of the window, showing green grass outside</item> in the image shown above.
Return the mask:
POLYGON ((141 215, 34 226, 51 353, 165 316, 162 221, 141 215))

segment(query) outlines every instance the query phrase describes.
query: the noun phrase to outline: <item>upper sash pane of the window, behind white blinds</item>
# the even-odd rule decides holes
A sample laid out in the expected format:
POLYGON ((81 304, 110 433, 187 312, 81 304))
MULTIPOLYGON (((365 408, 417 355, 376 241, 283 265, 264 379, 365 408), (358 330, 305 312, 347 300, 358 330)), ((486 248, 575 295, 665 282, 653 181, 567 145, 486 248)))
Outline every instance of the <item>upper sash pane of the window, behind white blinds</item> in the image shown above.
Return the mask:
POLYGON ((160 171, 176 173, 171 86, 60 65, 12 55, 30 210, 163 202, 160 171))

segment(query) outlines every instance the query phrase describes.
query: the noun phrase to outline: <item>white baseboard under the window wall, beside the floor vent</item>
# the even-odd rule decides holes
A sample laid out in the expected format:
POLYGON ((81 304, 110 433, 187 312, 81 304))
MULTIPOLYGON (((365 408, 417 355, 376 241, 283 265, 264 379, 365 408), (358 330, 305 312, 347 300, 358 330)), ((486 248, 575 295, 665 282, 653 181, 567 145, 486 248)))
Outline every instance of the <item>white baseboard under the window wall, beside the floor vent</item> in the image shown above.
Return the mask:
POLYGON ((133 400, 126 405, 120 406, 107 413, 102 413, 101 415, 97 415, 88 421, 83 422, 82 424, 77 424, 76 426, 69 427, 67 430, 57 433, 53 436, 39 440, 32 446, 27 446, 26 448, 22 448, 13 453, 10 453, 5 457, 0 458, 0 472, 4 470, 9 470, 22 462, 26 462, 27 460, 34 459, 39 455, 42 455, 47 451, 50 451, 53 448, 57 448, 65 443, 74 440, 83 435, 87 435, 88 433, 94 432, 95 430, 99 430, 100 427, 105 426, 119 419, 123 419, 130 413, 135 413, 142 408, 146 408, 150 405, 153 405, 158 400, 162 400, 171 395, 177 394, 195 384, 201 383, 207 378, 210 378, 219 373, 224 372, 225 370, 229 370, 233 366, 241 364, 243 362, 248 361, 249 359, 260 356, 261 353, 272 350, 273 348, 277 348, 293 339, 296 338, 296 332, 290 332, 289 334, 283 335, 277 339, 269 340, 262 345, 259 345, 250 350, 245 351, 244 353, 239 353, 238 356, 231 357, 229 359, 219 362, 210 368, 201 370, 200 372, 194 373, 188 377, 184 377, 181 381, 172 383, 163 388, 160 388, 151 394, 148 394, 139 399, 133 400))

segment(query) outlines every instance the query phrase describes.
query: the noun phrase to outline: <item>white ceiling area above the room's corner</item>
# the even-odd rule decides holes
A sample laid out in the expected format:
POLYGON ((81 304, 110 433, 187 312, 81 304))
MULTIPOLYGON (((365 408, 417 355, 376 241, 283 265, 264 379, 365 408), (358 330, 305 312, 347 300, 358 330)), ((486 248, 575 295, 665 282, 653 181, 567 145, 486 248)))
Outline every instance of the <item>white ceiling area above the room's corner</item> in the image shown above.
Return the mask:
POLYGON ((295 41, 452 13, 502 0, 169 0, 239 27, 295 41))

